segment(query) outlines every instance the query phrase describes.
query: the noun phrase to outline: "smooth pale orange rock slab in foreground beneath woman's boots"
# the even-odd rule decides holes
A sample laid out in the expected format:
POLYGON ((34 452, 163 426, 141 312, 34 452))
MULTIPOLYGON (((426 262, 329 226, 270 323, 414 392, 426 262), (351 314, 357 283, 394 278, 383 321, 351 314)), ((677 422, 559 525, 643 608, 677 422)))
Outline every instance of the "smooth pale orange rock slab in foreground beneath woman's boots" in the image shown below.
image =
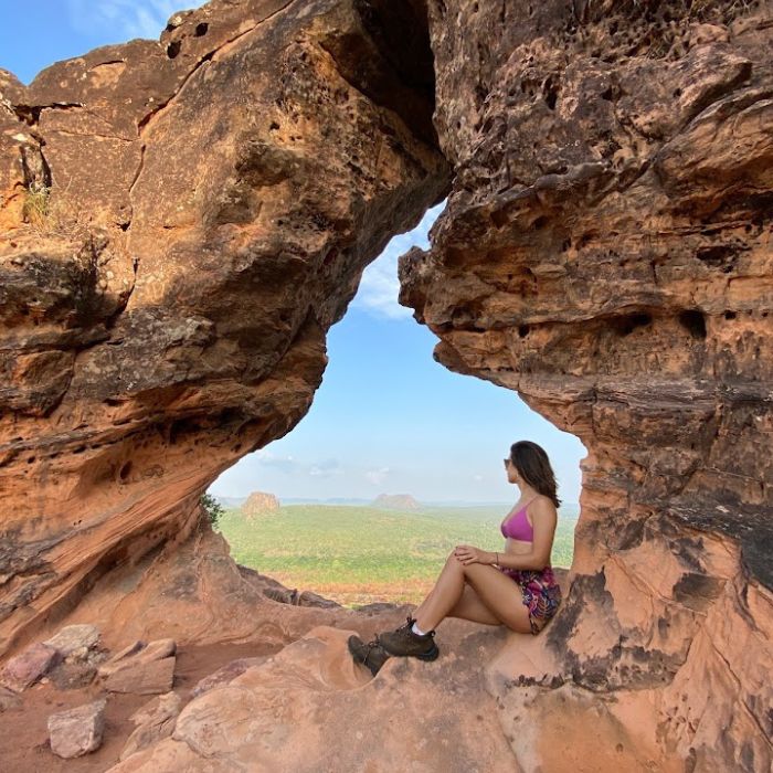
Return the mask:
POLYGON ((375 679, 351 659, 349 634, 310 629, 191 700, 170 738, 110 771, 513 770, 494 702, 480 689, 485 656, 501 646, 502 629, 481 636, 455 621, 447 657, 391 658, 375 679))

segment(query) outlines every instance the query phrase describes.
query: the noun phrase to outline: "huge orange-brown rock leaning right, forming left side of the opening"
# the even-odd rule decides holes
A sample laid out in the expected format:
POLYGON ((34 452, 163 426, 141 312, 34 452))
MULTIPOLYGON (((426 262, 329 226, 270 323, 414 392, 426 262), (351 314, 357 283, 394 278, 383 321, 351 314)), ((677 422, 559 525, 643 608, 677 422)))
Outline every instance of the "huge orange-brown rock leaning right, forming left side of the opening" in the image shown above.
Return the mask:
POLYGON ((296 424, 448 166, 407 0, 216 0, 0 92, 2 653, 296 424))

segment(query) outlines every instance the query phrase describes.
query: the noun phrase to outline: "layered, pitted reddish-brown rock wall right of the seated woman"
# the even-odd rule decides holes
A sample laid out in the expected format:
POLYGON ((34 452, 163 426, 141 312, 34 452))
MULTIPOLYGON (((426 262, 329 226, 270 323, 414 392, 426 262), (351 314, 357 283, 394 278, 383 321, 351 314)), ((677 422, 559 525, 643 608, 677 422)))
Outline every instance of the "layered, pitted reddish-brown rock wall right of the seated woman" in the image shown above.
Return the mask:
POLYGON ((430 9, 456 174, 401 301, 589 449, 571 592, 493 671, 505 729, 528 770, 591 711, 597 770, 766 771, 772 3, 430 9))

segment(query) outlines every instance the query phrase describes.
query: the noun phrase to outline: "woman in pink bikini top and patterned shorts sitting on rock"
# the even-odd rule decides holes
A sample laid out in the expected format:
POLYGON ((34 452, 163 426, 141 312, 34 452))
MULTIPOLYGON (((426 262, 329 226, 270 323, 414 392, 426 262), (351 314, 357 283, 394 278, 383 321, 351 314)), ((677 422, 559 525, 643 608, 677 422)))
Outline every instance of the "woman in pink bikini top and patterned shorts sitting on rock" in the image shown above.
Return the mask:
POLYGON ((373 674, 390 655, 434 660, 440 649, 435 627, 445 617, 462 617, 485 625, 538 634, 555 614, 561 589, 550 566, 550 552, 561 500, 544 451, 519 441, 505 459, 507 479, 520 489, 520 498, 501 523, 506 538, 501 552, 459 544, 451 553, 435 587, 407 623, 379 634, 369 644, 349 639, 354 659, 373 674))

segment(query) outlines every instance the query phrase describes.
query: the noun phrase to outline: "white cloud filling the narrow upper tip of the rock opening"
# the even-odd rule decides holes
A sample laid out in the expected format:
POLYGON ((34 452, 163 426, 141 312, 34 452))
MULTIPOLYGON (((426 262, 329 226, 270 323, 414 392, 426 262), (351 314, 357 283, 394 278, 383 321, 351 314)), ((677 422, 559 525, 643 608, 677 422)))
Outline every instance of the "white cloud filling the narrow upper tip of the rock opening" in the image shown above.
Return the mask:
POLYGON ((427 210, 421 223, 413 231, 394 236, 384 251, 362 273, 360 287, 352 300, 353 308, 361 308, 377 317, 404 319, 413 311, 398 303, 400 280, 398 258, 411 247, 426 248, 430 245, 427 233, 445 208, 445 201, 427 210))

